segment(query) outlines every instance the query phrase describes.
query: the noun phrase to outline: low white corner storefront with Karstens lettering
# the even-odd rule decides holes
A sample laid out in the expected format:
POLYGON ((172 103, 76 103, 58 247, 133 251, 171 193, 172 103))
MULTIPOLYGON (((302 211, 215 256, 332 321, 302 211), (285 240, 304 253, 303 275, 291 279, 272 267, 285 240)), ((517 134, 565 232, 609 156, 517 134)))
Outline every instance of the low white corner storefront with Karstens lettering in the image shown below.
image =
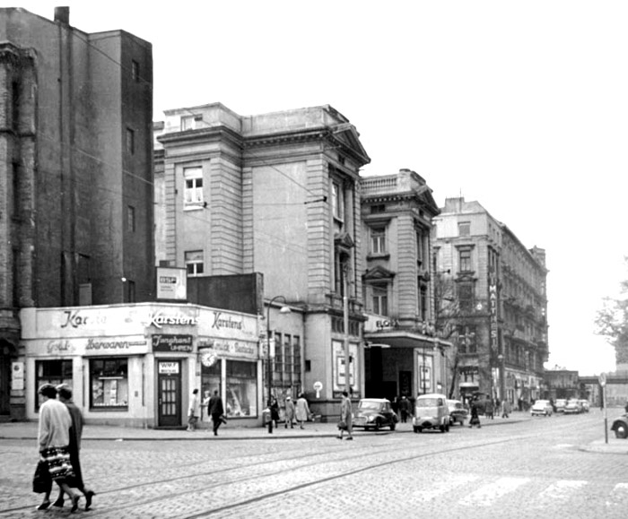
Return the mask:
POLYGON ((72 385, 88 423, 174 427, 192 390, 218 390, 231 418, 261 420, 257 316, 197 305, 142 303, 22 310, 26 410, 37 389, 72 385))

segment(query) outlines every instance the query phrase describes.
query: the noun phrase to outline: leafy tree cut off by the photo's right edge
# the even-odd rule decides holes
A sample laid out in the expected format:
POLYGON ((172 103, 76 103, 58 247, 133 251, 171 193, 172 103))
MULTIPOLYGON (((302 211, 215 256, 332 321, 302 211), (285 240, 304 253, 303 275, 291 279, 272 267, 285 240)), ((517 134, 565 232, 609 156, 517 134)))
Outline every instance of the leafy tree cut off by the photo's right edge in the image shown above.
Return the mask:
MULTIPOLYGON (((628 265, 628 257, 624 257, 628 265)), ((628 281, 619 284, 618 298, 603 298, 597 310, 596 333, 615 349, 617 364, 628 364, 628 281)))

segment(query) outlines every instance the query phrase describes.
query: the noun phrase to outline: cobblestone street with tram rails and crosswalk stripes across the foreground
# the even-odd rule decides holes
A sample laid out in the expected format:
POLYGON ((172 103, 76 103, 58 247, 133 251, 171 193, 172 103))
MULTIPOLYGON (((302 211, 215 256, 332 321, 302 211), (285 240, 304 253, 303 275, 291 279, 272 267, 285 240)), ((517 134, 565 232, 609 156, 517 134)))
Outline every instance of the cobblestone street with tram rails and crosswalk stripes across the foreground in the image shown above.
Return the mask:
MULTIPOLYGON (((609 410, 609 423, 620 412, 609 410)), ((445 434, 399 424, 394 432, 356 431, 353 442, 336 439, 332 424, 298 438, 312 424, 274 436, 236 438, 225 428, 217 438, 199 431, 181 439, 85 439, 83 474, 97 495, 91 511, 74 516, 628 516, 628 440, 609 432, 605 444, 601 411, 523 415, 445 434)), ((33 439, 4 436, 0 454, 0 518, 70 515, 67 505, 35 511, 33 439)))

